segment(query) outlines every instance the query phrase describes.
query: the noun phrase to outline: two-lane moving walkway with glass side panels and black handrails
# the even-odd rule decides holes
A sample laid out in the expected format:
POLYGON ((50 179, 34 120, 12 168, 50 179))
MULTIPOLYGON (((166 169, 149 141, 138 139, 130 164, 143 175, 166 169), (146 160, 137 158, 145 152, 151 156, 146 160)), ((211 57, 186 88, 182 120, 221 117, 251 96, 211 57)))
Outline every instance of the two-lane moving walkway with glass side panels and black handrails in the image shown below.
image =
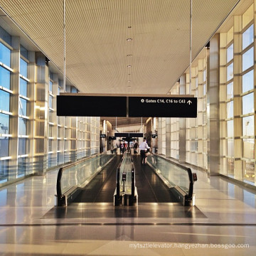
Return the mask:
POLYGON ((140 156, 111 151, 81 159, 59 170, 57 206, 69 203, 112 203, 134 206, 138 203, 194 203, 196 175, 180 164, 149 154, 148 165, 140 156))

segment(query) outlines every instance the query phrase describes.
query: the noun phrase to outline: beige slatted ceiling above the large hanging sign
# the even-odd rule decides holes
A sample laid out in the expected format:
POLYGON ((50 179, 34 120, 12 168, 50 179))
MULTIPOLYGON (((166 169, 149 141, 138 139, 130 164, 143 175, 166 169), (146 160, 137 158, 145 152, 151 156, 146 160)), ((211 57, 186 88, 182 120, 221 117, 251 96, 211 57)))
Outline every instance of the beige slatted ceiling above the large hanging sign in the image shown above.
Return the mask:
MULTIPOLYGON (((193 57, 237 1, 193 0, 193 57)), ((65 3, 66 74, 81 92, 166 94, 188 67, 190 1, 65 3)), ((1 0, 0 6, 63 70, 63 0, 1 0)))

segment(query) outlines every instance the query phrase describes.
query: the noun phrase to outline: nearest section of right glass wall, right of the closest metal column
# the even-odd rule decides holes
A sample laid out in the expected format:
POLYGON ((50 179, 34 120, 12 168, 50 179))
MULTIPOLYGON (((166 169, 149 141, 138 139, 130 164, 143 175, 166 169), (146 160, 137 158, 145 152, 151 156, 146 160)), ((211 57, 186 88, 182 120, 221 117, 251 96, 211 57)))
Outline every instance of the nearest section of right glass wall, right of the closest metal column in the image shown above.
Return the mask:
POLYGON ((220 33, 220 173, 251 184, 255 183, 253 10, 252 4, 234 17, 228 32, 220 33))

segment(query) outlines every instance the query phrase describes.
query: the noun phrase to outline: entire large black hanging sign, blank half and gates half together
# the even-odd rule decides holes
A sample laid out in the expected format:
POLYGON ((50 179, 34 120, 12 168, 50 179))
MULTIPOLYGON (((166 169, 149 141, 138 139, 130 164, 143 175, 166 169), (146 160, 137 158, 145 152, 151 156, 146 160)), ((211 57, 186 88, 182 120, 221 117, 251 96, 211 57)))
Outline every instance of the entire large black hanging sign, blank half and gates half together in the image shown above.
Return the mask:
POLYGON ((197 98, 58 95, 57 115, 73 117, 197 117, 197 98))

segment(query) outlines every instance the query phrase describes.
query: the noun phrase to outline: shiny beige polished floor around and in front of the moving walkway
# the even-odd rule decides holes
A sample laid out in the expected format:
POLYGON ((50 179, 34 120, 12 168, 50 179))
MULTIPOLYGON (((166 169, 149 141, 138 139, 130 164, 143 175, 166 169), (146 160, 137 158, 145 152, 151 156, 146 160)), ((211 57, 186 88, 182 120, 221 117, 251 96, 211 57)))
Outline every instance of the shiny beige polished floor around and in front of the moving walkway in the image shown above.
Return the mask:
POLYGON ((193 171, 192 208, 76 203, 56 211, 57 171, 1 188, 0 255, 255 255, 256 191, 193 171))

